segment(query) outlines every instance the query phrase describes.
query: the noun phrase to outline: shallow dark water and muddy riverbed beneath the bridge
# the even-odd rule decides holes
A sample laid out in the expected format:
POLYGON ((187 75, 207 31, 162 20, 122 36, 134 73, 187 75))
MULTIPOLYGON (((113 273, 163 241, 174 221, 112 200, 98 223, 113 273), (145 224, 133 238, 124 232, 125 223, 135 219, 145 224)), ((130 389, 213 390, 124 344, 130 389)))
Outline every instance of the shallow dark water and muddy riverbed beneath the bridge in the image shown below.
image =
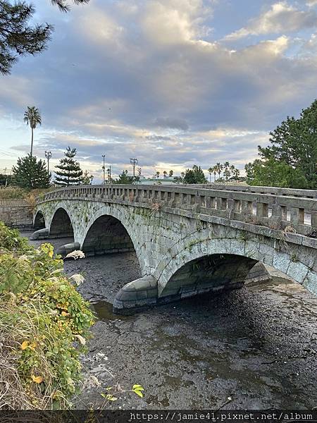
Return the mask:
POLYGON ((141 384, 145 396, 121 393, 111 407, 317 406, 317 298, 299 284, 274 277, 120 317, 111 303, 140 276, 134 254, 68 261, 65 270, 85 276, 79 290, 99 319, 82 357, 77 408, 101 407, 100 393, 116 383, 123 389, 141 384))

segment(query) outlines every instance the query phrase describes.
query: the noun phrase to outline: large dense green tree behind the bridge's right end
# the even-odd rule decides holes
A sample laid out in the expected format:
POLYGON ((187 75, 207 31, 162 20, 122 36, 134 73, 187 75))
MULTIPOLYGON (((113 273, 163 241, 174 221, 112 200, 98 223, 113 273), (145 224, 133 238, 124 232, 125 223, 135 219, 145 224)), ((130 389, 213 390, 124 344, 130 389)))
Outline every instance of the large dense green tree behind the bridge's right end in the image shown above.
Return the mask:
POLYGON ((316 189, 317 100, 302 110, 299 119, 287 116, 270 135, 271 145, 259 147, 261 163, 258 159, 246 167, 249 183, 316 189))

